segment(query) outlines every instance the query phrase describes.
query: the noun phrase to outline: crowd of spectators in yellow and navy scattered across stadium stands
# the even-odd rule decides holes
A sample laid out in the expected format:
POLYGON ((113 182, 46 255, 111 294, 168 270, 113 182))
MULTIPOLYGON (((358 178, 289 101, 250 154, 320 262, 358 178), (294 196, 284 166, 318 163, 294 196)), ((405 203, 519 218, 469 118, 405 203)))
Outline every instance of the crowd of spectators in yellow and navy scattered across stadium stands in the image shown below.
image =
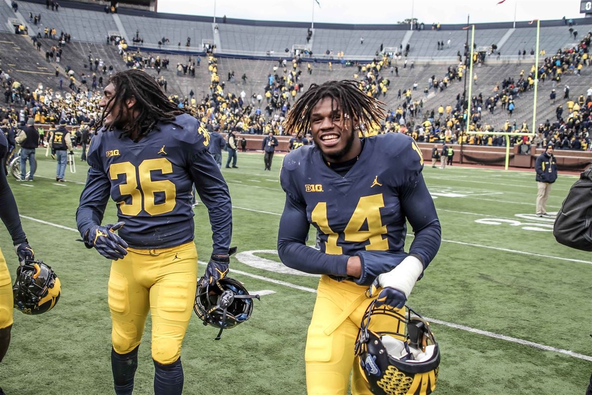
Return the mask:
MULTIPOLYGON (((53 5, 57 11, 55 2, 48 2, 48 8, 53 5)), ((18 7, 18 6, 17 6, 18 7)), ((40 21, 41 15, 30 15, 33 21, 40 21)), ((439 25, 434 24, 433 30, 439 30, 439 25)), ((40 38, 40 34, 38 37, 40 38)), ((570 31, 570 34, 573 34, 570 31)), ((575 36, 574 36, 575 37, 575 36)), ((53 45, 46 50, 47 62, 56 63, 56 77, 60 78, 60 89, 62 88, 62 76, 59 73, 59 63, 62 57, 63 47, 70 42, 70 36, 62 32, 56 37, 56 31, 53 28, 45 28, 44 38, 54 38, 57 45, 53 45)), ((168 69, 169 59, 160 55, 150 53, 141 53, 128 51, 127 43, 121 37, 109 37, 110 44, 118 47, 124 64, 128 68, 154 69, 157 76, 157 83, 167 92, 167 81, 163 75, 160 75, 162 69, 168 69)), ((136 31, 134 42, 143 41, 136 31)), ((162 38, 162 43, 168 41, 166 37, 162 38)), ((361 37, 361 43, 363 38, 361 37)), ((40 41, 34 37, 34 45, 40 50, 40 41)), ((190 39, 186 43, 190 45, 190 39)), ((439 41, 437 47, 443 49, 449 47, 449 42, 439 41)), ((545 57, 539 70, 535 66, 530 68, 529 72, 525 70, 520 72, 519 76, 508 76, 500 84, 494 86, 492 92, 474 95, 471 98, 471 114, 467 114, 466 98, 464 94, 456 95, 455 103, 442 103, 437 107, 425 108, 426 99, 430 97, 430 91, 433 89, 433 95, 444 91, 449 86, 458 82, 462 83, 462 77, 465 76, 468 59, 468 47, 465 44, 465 56, 457 66, 449 66, 446 73, 442 76, 432 75, 427 79, 427 85, 423 88, 423 97, 417 92, 419 84, 415 82, 413 86, 407 89, 401 89, 397 92, 397 99, 400 104, 396 108, 390 108, 387 117, 381 124, 375 125, 372 130, 362 130, 365 135, 377 133, 398 132, 407 133, 418 141, 424 142, 459 142, 466 144, 490 144, 502 145, 505 143, 504 137, 469 135, 464 133, 466 123, 469 123, 471 131, 495 131, 487 121, 482 120, 482 113, 503 114, 508 111, 509 119, 504 123, 501 131, 521 131, 529 133, 526 123, 517 125, 516 121, 510 121, 513 111, 516 111, 517 101, 520 95, 533 89, 535 78, 538 76, 539 84, 545 84, 545 81, 551 80, 552 87, 561 83, 562 76, 566 74, 580 75, 581 69, 590 66, 588 47, 590 46, 590 33, 580 39, 578 46, 570 49, 559 50, 555 55, 545 57), (537 74, 535 76, 535 74, 537 74)), ((408 47, 405 48, 407 53, 408 47)), ((332 50, 327 50, 332 56, 332 50)), ((398 76, 398 63, 394 60, 401 58, 403 47, 392 56, 379 52, 377 57, 369 63, 352 63, 357 69, 353 73, 353 79, 359 82, 359 88, 367 95, 381 98, 385 97, 391 84, 389 78, 398 76), (390 76, 389 76, 390 72, 390 76)), ((544 54, 541 51, 541 54, 544 54)), ((343 53, 337 54, 338 58, 343 58, 343 53)), ((229 72, 227 81, 223 81, 217 70, 217 59, 213 53, 207 54, 208 73, 210 76, 210 86, 207 94, 198 99, 193 91, 189 96, 172 94, 170 100, 179 107, 188 107, 191 112, 202 121, 207 123, 210 128, 217 126, 223 131, 237 130, 242 133, 263 134, 270 131, 274 134, 282 134, 282 122, 289 111, 291 104, 297 99, 298 94, 304 88, 301 81, 303 68, 301 64, 303 59, 300 56, 294 57, 291 61, 288 59, 279 59, 278 64, 273 67, 273 72, 269 73, 268 81, 262 87, 260 93, 253 93, 247 97, 244 90, 238 92, 239 88, 235 82, 234 72, 229 72), (233 88, 227 89, 226 84, 233 88), (234 90, 234 92, 233 92, 234 90)), ((474 53, 474 63, 481 63, 485 60, 485 54, 481 52, 474 53)), ((188 62, 177 63, 175 66, 177 76, 195 77, 195 70, 200 66, 201 57, 189 56, 188 62)), ((313 62, 305 62, 309 74, 313 73, 313 62)), ((343 62, 342 62, 343 63, 343 62)), ((332 70, 332 63, 328 64, 329 70, 332 70)), ((410 68, 413 68, 411 62, 410 68)), ((407 68, 407 60, 404 61, 403 68, 407 68)), ((37 123, 55 123, 60 119, 65 119, 68 124, 76 125, 81 121, 94 124, 98 116, 98 99, 100 92, 97 89, 102 88, 108 81, 108 76, 115 72, 113 65, 106 65, 102 59, 88 55, 88 74, 85 72, 76 73, 69 66, 64 68, 69 80, 68 88, 70 92, 53 91, 50 88, 38 86, 31 89, 22 86, 18 81, 12 81, 7 72, 0 70, 0 82, 4 89, 5 104, 24 105, 22 110, 15 110, 8 106, 1 108, 0 115, 6 115, 7 118, 14 121, 26 120, 28 117, 34 118, 37 123)), ((472 76, 474 85, 478 85, 477 73, 472 76)), ((246 84, 247 76, 243 74, 243 84, 246 84)), ((240 86, 240 85, 239 85, 240 86)), ((556 110, 556 121, 547 120, 540 124, 537 136, 528 139, 526 137, 513 137, 513 143, 528 144, 546 144, 554 143, 558 148, 587 149, 590 147, 590 130, 592 129, 590 121, 590 105, 592 102, 592 88, 588 89, 586 95, 581 94, 577 100, 570 98, 570 88, 567 84, 562 87, 564 91, 564 100, 559 104, 556 110), (567 107, 567 113, 564 114, 564 105, 567 107)), ((555 89, 549 97, 552 103, 555 102, 555 89)), ((433 101, 432 101, 433 102, 433 101)))

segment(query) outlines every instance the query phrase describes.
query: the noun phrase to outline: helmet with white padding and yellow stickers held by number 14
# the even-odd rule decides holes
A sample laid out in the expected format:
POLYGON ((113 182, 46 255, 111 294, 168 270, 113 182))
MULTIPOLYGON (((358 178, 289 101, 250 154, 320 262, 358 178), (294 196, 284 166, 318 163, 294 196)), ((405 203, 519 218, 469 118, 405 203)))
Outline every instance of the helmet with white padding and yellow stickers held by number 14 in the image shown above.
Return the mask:
POLYGON ((430 324, 411 309, 404 316, 387 306, 372 301, 362 318, 355 345, 362 376, 375 395, 429 395, 436 389, 440 364, 430 324), (392 319, 392 331, 372 330, 371 319, 378 314, 392 319))

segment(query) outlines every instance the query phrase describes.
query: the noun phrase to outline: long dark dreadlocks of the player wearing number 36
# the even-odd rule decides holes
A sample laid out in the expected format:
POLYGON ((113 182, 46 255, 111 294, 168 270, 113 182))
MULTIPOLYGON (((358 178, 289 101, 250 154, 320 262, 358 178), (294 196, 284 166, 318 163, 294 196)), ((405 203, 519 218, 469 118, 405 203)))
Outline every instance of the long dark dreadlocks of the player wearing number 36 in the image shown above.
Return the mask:
MULTIPOLYGON (((160 86, 156 84, 156 81, 143 70, 130 69, 118 72, 111 76, 110 82, 115 86, 115 95, 109 99, 101 118, 96 123, 95 134, 104 125, 105 118, 110 113, 107 108, 112 108, 110 107, 111 102, 114 106, 122 105, 123 108, 126 100, 131 97, 136 99, 134 108, 140 112, 132 122, 123 126, 120 138, 130 136, 132 131, 137 129, 136 140, 138 140, 141 136, 150 133, 157 123, 166 121, 175 124, 176 115, 187 113, 186 110, 178 108, 173 102, 169 101, 160 86)), ((123 111, 120 111, 117 114, 108 130, 114 129, 114 125, 121 120, 122 113, 123 111)), ((181 127, 177 124, 175 126, 181 127)), ((158 127, 156 129, 160 130, 158 127)))

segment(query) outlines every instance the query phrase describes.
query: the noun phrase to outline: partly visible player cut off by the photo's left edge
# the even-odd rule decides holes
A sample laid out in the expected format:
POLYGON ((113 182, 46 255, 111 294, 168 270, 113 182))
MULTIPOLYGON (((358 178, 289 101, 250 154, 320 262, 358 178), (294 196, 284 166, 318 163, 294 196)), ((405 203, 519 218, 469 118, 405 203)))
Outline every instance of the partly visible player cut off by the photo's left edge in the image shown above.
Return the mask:
MULTIPOLYGON (((8 152, 8 141, 4 133, 0 133, 0 158, 8 152)), ((17 203, 8 185, 5 169, 0 169, 0 217, 12 237, 12 243, 17 251, 18 261, 33 260, 34 253, 28 244, 27 236, 22 230, 21 219, 18 216, 17 203)), ((8 350, 10 330, 12 329, 12 281, 8 266, 0 250, 0 362, 8 350)), ((3 394, 0 388, 0 394, 3 394)))

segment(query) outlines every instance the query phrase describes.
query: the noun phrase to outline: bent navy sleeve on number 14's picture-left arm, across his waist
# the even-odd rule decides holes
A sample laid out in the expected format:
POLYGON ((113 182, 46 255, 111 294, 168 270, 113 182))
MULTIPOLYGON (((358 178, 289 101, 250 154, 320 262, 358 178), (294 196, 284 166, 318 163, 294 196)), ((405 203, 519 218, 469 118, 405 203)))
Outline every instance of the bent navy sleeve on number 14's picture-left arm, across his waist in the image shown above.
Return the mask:
POLYGON ((302 272, 347 277, 349 256, 330 255, 304 243, 309 226, 304 205, 286 194, 284 213, 279 220, 279 259, 289 268, 302 272))

